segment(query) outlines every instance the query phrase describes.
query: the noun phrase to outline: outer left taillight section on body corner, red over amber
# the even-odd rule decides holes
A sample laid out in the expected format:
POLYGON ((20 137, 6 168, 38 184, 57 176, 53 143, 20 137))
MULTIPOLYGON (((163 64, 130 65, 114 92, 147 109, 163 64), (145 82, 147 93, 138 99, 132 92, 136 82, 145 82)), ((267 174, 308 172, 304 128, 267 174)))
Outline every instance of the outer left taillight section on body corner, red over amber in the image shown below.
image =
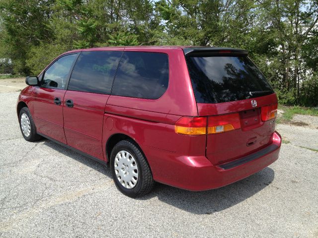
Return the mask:
POLYGON ((184 135, 204 135, 207 133, 207 118, 182 117, 175 122, 174 130, 184 135))

